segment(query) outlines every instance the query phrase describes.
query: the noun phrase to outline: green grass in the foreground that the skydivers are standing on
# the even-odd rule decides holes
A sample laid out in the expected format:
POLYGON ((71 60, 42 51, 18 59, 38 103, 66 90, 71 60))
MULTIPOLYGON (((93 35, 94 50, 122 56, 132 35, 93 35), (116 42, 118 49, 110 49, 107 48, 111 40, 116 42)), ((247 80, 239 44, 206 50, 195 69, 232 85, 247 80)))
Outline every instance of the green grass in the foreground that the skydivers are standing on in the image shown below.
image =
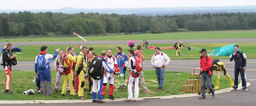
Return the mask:
MULTIPOLYGON (((34 89, 36 91, 36 86, 32 82, 34 79, 34 72, 26 72, 19 70, 12 70, 12 80, 11 80, 11 92, 13 94, 7 95, 4 94, 4 84, 5 77, 3 70, 0 70, 0 100, 76 100, 76 96, 71 96, 67 94, 66 96, 61 95, 62 89, 62 81, 61 87, 57 94, 53 93, 51 97, 45 97, 40 94, 36 95, 23 95, 22 93, 28 89, 34 89)), ((54 91, 54 83, 56 81, 56 72, 54 70, 51 71, 52 75, 52 91, 54 91)), ((139 97, 153 97, 153 96, 164 96, 164 95, 179 95, 179 94, 187 94, 182 91, 180 85, 185 85, 186 80, 189 79, 190 73, 188 72, 174 72, 174 71, 165 71, 165 90, 155 90, 158 88, 157 86, 157 78, 154 70, 144 70, 145 83, 147 87, 152 90, 150 94, 145 94, 140 87, 140 95, 139 97), (180 82, 179 82, 180 80, 180 82)), ((126 75, 128 77, 128 75, 126 75)), ((212 77, 212 82, 215 84, 216 76, 212 77)), ((220 80, 220 89, 230 87, 228 80, 224 77, 221 77, 220 80)), ((127 89, 117 90, 117 82, 115 81, 115 89, 114 89, 114 97, 116 98, 126 98, 127 97, 127 89)), ((127 80, 126 80, 127 82, 127 80)), ((87 85, 87 82, 86 82, 87 85)), ((88 88, 88 87, 87 87, 88 88)), ((109 87, 107 87, 109 88, 109 87)), ((106 89, 106 94, 108 94, 109 90, 106 89)), ((84 92, 87 99, 92 99, 90 95, 87 95, 88 92, 84 92)), ((107 96, 105 96, 107 98, 107 96)))

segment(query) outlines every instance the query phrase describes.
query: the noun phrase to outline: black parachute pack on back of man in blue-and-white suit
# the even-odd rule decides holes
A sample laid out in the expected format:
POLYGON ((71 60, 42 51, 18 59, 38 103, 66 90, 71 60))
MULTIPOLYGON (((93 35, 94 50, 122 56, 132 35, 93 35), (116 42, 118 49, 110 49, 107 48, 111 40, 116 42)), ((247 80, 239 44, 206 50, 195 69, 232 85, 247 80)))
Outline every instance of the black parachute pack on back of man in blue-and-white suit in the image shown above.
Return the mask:
POLYGON ((102 61, 105 61, 105 59, 99 59, 99 58, 92 59, 88 73, 93 79, 99 80, 103 77, 104 67, 102 65, 102 61))

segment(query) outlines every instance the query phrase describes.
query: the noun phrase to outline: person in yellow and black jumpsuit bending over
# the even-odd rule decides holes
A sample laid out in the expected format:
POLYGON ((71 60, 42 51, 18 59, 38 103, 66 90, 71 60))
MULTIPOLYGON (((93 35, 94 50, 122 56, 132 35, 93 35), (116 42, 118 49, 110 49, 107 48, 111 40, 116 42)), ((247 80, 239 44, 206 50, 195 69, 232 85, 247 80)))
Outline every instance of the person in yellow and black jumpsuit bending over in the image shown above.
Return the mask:
POLYGON ((229 80, 230 86, 231 87, 234 86, 233 80, 225 70, 224 62, 217 62, 217 64, 212 65, 212 70, 216 70, 216 74, 217 74, 216 87, 214 88, 215 90, 218 90, 220 87, 220 71, 222 71, 223 74, 227 77, 227 79, 229 80))

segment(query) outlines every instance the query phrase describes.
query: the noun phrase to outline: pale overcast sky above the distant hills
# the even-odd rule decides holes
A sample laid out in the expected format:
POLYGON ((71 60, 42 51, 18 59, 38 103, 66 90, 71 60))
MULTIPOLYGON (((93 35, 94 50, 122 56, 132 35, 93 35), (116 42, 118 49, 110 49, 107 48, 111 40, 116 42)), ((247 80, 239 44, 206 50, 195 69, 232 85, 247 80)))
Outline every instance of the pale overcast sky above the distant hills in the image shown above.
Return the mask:
POLYGON ((134 7, 256 6, 256 0, 1 0, 0 10, 134 7))

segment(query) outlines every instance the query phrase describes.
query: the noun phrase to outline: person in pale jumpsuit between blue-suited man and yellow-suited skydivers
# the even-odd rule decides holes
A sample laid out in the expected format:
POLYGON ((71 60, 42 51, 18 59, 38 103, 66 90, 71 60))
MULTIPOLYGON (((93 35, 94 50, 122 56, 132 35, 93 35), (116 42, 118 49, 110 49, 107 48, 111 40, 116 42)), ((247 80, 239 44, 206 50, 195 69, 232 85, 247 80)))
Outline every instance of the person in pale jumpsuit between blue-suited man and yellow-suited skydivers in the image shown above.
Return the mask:
MULTIPOLYGON (((54 69, 56 73, 56 82, 54 85, 55 93, 57 93, 57 90, 59 90, 59 82, 61 82, 61 75, 64 75, 63 72, 63 65, 61 64, 62 56, 64 55, 64 50, 61 50, 59 52, 59 55, 57 56, 55 62, 54 62, 54 69)), ((69 91, 69 84, 67 84, 67 90, 69 91)))

